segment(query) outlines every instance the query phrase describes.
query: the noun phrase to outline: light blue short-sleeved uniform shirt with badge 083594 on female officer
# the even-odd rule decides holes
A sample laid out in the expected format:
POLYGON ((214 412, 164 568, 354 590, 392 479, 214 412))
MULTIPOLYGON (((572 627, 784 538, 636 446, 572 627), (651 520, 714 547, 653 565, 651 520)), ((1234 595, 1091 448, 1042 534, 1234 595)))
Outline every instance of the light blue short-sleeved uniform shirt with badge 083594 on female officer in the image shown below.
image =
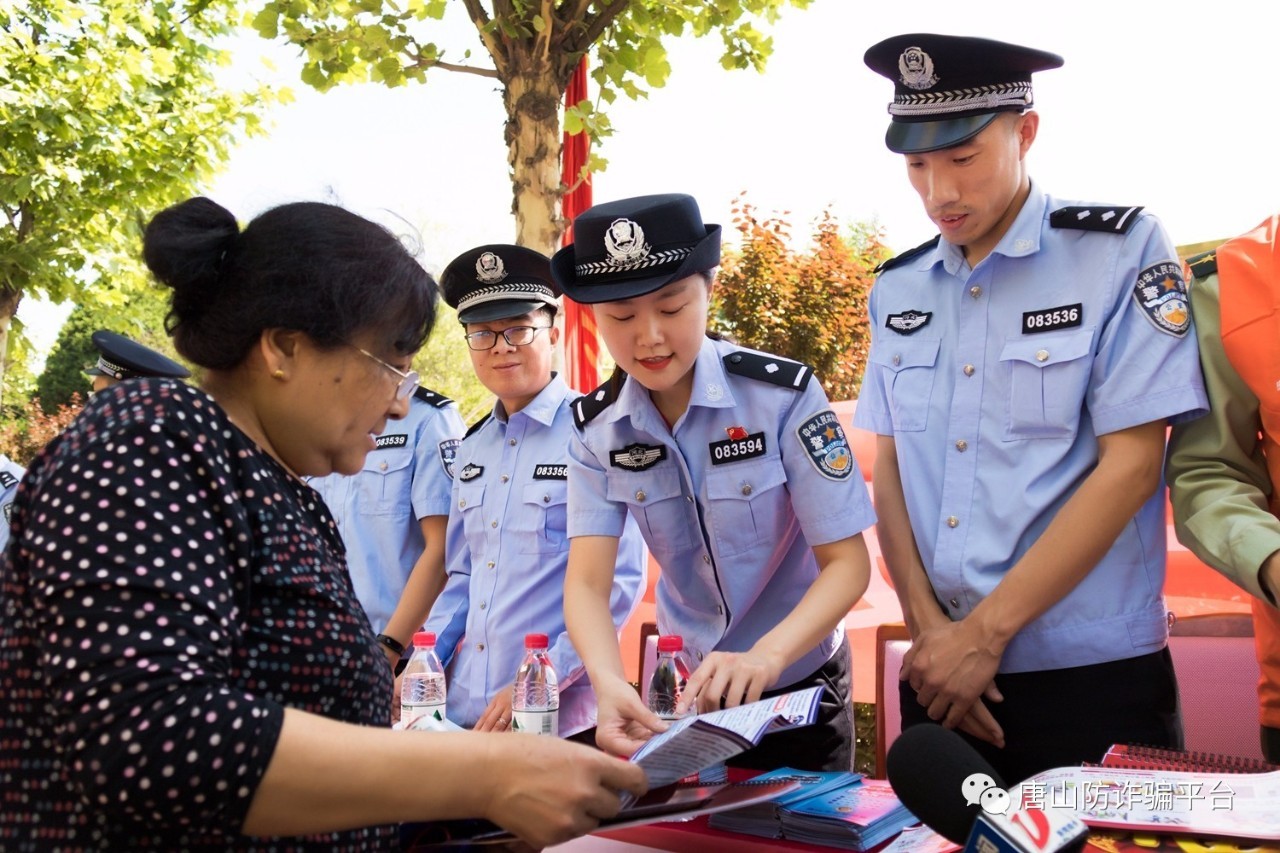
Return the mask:
MULTIPOLYGON (((680 634, 699 661, 751 648, 817 579, 812 546, 876 523, 812 371, 722 341, 703 342, 673 430, 628 378, 575 437, 571 457, 570 535, 616 537, 628 516, 639 521, 662 566, 658 629, 680 634), (731 373, 726 357, 765 378, 731 373)), ((771 686, 817 671, 842 638, 844 624, 771 686)))

